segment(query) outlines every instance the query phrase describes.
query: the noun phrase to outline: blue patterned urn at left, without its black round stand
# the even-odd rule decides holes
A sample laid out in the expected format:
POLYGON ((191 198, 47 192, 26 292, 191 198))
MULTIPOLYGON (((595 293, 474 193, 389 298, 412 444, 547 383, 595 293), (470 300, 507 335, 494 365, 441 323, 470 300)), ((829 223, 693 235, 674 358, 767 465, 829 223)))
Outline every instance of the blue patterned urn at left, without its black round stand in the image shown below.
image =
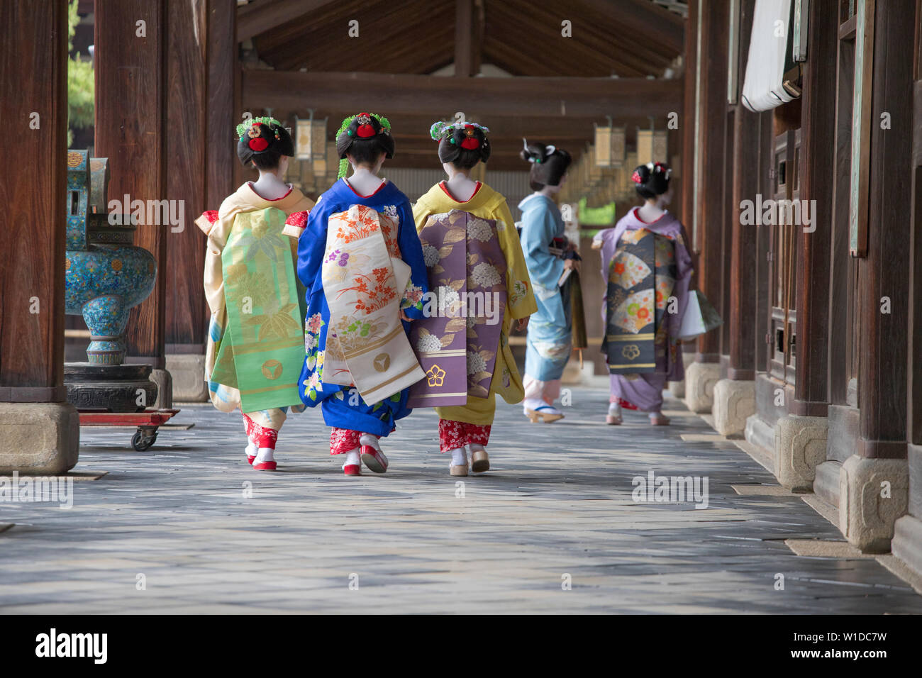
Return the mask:
POLYGON ((114 220, 126 225, 110 224, 108 160, 88 155, 67 153, 65 313, 83 315, 89 327, 89 363, 118 365, 128 311, 154 289, 157 262, 132 244, 136 226, 127 215, 114 220))

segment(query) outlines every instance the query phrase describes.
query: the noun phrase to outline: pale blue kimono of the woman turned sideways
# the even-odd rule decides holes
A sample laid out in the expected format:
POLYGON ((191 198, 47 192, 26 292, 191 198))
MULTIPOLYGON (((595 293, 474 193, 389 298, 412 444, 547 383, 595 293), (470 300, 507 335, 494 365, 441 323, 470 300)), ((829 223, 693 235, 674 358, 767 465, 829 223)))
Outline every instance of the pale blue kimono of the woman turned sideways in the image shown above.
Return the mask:
MULTIPOLYGON (((532 194, 519 203, 519 209, 522 250, 538 302, 538 313, 528 322, 525 374, 531 380, 552 382, 561 378, 570 358, 573 333, 570 295, 561 294, 558 286, 563 259, 550 253, 554 238, 563 237, 564 224, 550 197, 532 194)), ((528 390, 526 385, 526 398, 528 390)))

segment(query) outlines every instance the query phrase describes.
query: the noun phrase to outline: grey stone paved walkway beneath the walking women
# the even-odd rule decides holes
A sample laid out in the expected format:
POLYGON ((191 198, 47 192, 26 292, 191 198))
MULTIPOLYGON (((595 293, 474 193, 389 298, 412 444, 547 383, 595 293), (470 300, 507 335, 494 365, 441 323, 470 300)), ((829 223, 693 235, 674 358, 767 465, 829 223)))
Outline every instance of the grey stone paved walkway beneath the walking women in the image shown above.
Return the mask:
POLYGON ((130 431, 84 428, 75 470, 107 473, 75 482, 73 508, 0 504, 0 610, 922 613, 873 558, 793 553, 786 539, 842 536, 798 496, 738 494, 776 483, 678 400, 654 428, 606 426, 607 399, 574 389, 551 425, 501 404, 493 469, 463 486, 431 410, 385 441, 391 470, 361 478, 329 458, 319 411, 286 423, 277 473, 247 465, 239 415, 206 406, 143 453, 130 431), (706 476, 709 506, 633 502, 650 470, 706 476))

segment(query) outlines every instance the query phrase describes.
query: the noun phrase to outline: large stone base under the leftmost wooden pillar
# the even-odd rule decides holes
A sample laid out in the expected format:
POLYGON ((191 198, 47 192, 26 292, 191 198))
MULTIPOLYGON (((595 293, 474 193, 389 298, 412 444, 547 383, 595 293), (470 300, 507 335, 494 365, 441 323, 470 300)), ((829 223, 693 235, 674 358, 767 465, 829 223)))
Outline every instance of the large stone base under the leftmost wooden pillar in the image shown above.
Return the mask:
POLYGON ((77 465, 80 418, 66 402, 0 402, 0 474, 65 473, 77 465))

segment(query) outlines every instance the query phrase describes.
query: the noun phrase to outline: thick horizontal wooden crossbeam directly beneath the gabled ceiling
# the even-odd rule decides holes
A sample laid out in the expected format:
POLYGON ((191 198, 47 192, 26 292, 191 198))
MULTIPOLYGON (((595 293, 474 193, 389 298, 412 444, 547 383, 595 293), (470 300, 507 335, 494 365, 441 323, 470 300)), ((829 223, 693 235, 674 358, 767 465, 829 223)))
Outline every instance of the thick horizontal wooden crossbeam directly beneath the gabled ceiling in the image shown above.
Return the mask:
POLYGON ((477 110, 481 115, 563 118, 666 115, 680 110, 680 80, 613 77, 452 77, 381 73, 245 70, 246 108, 325 107, 338 111, 420 113, 477 110))

